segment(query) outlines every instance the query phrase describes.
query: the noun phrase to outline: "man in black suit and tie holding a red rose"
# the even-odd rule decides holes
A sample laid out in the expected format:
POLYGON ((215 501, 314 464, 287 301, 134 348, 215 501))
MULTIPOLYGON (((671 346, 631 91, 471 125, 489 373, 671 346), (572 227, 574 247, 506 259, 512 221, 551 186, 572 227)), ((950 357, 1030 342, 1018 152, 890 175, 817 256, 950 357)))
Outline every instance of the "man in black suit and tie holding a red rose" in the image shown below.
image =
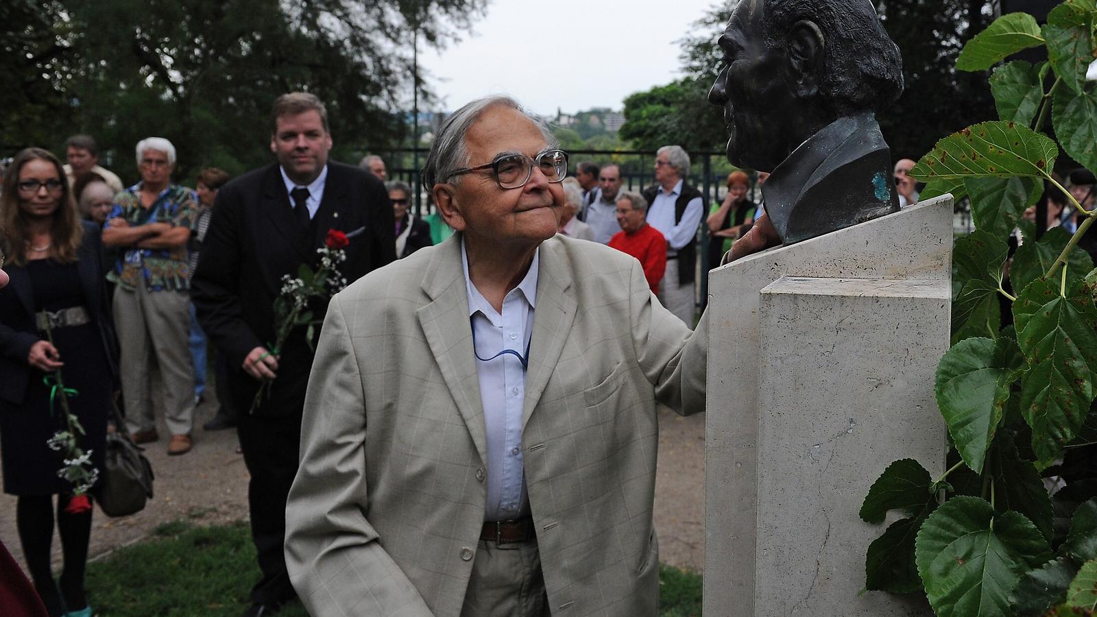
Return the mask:
MULTIPOLYGON (((283 94, 271 114, 278 164, 233 180, 218 192, 213 220, 191 282, 199 322, 228 359, 228 390, 239 410, 237 430, 251 474, 251 535, 262 579, 245 615, 270 615, 294 597, 285 571, 285 502, 297 472, 301 416, 313 363, 304 327, 271 352, 273 303, 282 276, 317 267, 329 229, 350 238, 339 265, 349 282, 395 256, 393 207, 381 180, 328 161, 327 111, 313 94, 283 94), (276 379, 275 379, 276 378, 276 379), (270 396, 251 408, 261 383, 270 396)), ((309 306, 323 319, 327 302, 309 306)), ((316 335, 319 327, 315 328, 316 335)), ((313 341, 315 343, 315 340, 313 341)))

